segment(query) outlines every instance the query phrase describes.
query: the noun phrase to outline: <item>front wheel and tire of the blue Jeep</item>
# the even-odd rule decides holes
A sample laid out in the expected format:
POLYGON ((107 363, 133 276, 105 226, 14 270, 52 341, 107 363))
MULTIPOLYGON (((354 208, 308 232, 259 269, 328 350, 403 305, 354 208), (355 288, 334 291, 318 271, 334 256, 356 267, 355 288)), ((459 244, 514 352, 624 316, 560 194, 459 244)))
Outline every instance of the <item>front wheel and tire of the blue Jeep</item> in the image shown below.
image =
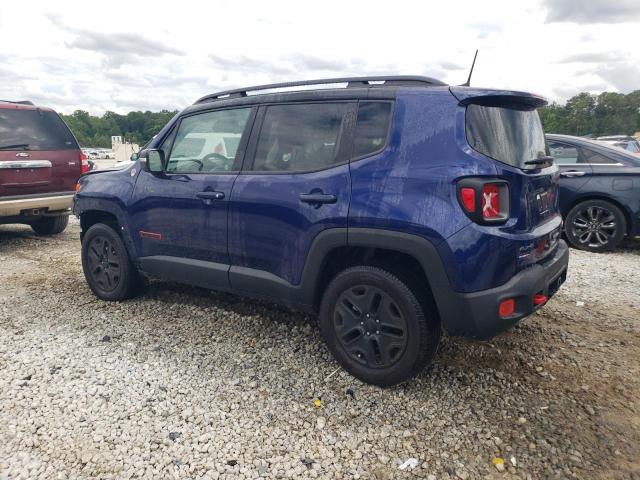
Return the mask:
POLYGON ((144 285, 118 232, 103 223, 82 238, 82 270, 96 297, 118 301, 135 296, 144 285))

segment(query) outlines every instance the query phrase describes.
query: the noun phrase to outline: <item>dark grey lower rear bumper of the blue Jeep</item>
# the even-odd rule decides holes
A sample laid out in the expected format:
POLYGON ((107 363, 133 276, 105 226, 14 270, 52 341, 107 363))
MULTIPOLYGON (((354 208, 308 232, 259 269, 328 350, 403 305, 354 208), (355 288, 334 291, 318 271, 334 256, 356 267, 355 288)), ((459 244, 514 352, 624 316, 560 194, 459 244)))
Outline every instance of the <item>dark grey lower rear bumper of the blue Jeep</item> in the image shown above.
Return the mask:
POLYGON ((517 273, 504 285, 489 290, 459 293, 450 287, 435 287, 438 310, 443 326, 452 335, 488 339, 506 330, 540 308, 533 296, 541 293, 552 297, 567 277, 569 248, 560 240, 556 251, 544 261, 517 273), (515 299, 515 312, 500 318, 502 300, 515 299))

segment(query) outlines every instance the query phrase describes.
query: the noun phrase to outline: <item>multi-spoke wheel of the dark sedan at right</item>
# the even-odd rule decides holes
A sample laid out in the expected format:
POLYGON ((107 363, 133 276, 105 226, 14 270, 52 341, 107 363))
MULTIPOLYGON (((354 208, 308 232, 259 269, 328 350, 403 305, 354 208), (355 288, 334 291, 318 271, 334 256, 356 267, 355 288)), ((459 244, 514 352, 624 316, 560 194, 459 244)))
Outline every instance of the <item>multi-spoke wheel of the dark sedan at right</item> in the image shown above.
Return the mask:
POLYGON ((627 232, 624 214, 606 200, 586 200, 567 215, 564 233, 569 244, 589 252, 616 249, 627 232))

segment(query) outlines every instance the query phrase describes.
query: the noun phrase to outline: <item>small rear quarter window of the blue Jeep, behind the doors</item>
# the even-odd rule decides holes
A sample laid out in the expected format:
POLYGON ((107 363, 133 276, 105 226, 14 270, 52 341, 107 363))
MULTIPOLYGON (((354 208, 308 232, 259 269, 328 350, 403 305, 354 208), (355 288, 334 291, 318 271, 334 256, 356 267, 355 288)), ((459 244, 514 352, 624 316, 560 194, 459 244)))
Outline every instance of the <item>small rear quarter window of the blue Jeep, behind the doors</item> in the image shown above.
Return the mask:
POLYGON ((390 103, 360 102, 352 158, 377 152, 384 147, 390 120, 390 103))

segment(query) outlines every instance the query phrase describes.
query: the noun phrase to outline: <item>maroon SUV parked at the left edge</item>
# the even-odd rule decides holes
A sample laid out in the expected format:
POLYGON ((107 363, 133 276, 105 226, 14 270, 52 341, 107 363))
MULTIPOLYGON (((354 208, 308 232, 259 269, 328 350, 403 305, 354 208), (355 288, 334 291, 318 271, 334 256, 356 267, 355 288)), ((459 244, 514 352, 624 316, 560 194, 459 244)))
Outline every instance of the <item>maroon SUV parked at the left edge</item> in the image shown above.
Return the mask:
POLYGON ((0 101, 0 224, 62 232, 78 178, 88 170, 87 157, 56 112, 0 101))

